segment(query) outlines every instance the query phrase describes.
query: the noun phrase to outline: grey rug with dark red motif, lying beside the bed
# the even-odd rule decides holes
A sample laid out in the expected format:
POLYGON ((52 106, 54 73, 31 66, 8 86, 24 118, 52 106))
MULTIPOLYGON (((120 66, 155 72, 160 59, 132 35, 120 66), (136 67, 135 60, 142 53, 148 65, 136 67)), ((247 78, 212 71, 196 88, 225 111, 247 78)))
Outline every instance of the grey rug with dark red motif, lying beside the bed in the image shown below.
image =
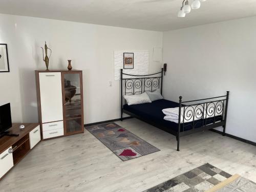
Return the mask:
POLYGON ((160 151, 116 123, 88 126, 86 129, 122 161, 160 151))

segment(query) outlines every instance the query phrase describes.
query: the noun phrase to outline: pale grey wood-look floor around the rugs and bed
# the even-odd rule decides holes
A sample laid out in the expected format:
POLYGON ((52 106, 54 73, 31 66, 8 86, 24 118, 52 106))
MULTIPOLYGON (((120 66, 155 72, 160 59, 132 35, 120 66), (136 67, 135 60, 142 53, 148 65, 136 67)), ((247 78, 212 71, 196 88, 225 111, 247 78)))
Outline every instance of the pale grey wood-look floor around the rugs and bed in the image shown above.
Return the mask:
POLYGON ((137 119, 117 121, 161 151, 122 162, 88 131, 39 143, 0 181, 0 191, 143 191, 210 163, 256 182, 256 147, 203 132, 176 138, 137 119))

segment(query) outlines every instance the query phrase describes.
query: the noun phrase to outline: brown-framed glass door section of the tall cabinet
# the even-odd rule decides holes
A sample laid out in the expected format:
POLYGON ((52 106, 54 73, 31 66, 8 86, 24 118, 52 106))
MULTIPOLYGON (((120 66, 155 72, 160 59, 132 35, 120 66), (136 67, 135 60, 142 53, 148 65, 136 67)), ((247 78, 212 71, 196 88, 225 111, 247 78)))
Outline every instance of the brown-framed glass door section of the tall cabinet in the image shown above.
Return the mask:
POLYGON ((82 72, 62 72, 64 134, 83 132, 82 72))

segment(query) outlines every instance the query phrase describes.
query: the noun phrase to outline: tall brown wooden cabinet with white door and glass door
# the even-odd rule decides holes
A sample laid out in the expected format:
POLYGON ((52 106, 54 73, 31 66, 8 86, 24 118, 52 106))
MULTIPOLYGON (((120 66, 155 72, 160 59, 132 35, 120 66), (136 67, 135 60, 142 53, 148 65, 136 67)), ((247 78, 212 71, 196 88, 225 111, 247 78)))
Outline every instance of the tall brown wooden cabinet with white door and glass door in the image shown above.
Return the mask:
POLYGON ((83 133, 82 71, 35 71, 43 139, 83 133))

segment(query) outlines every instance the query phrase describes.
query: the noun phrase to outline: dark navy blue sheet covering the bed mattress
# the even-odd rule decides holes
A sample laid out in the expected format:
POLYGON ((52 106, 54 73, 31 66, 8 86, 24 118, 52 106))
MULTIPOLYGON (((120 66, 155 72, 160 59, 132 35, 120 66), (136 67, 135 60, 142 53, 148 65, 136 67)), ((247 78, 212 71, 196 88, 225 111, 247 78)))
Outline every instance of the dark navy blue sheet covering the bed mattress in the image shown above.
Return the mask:
MULTIPOLYGON (((168 127, 169 129, 178 131, 178 123, 164 120, 163 117, 165 115, 162 112, 163 109, 177 108, 178 106, 179 106, 179 103, 177 102, 173 102, 165 99, 159 99, 159 100, 153 101, 152 103, 143 103, 143 104, 134 104, 134 105, 125 104, 123 105, 123 109, 137 116, 149 119, 162 126, 168 127)), ((222 119, 221 116, 216 117, 216 121, 221 119, 222 119)), ((214 118, 207 118, 206 124, 210 124, 213 122, 214 122, 214 118)), ((196 124, 195 126, 196 128, 201 127, 203 125, 203 120, 202 119, 197 120, 195 121, 195 124, 196 124)), ((193 122, 184 123, 184 131, 191 130, 192 127, 193 127, 193 122)), ((183 131, 183 123, 181 124, 181 132, 182 131, 183 131)))

